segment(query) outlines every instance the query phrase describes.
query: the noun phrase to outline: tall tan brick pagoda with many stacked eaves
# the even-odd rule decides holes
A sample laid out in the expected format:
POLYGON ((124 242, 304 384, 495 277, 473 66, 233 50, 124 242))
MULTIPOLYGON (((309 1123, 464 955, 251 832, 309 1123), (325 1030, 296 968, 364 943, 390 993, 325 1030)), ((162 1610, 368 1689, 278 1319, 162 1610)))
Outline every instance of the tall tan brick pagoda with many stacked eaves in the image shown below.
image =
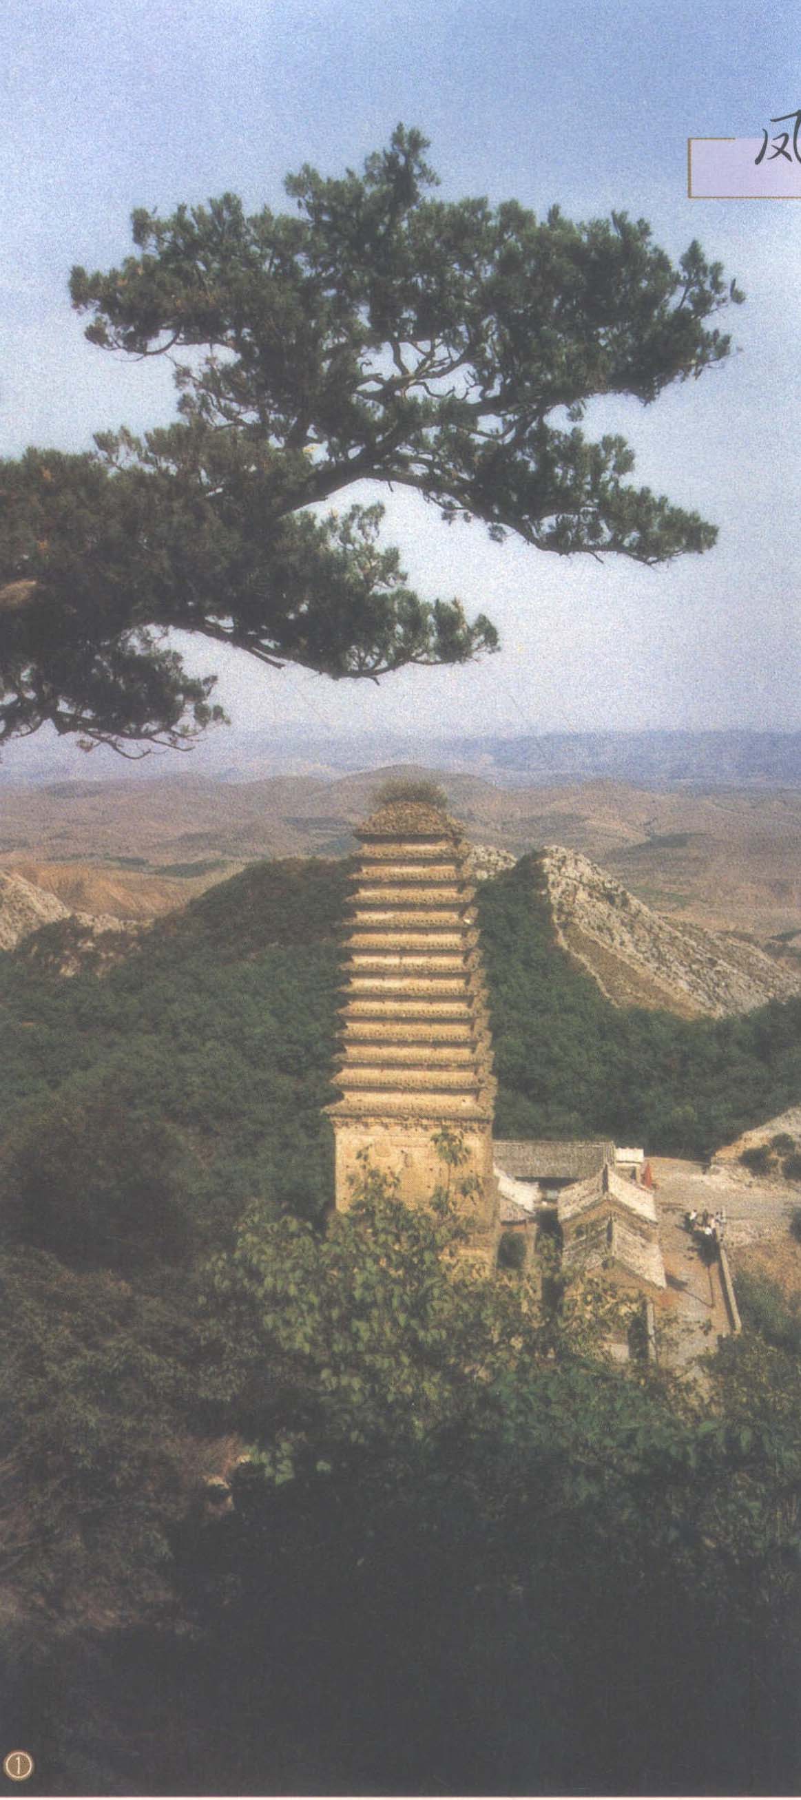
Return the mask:
POLYGON ((470 851, 439 806, 412 799, 380 806, 356 837, 342 1098, 328 1109, 337 1208, 351 1204, 365 1156, 398 1177, 401 1199, 428 1201, 448 1179, 436 1139, 450 1132, 463 1154, 452 1188, 464 1195, 473 1246, 493 1255, 495 1082, 470 851))

